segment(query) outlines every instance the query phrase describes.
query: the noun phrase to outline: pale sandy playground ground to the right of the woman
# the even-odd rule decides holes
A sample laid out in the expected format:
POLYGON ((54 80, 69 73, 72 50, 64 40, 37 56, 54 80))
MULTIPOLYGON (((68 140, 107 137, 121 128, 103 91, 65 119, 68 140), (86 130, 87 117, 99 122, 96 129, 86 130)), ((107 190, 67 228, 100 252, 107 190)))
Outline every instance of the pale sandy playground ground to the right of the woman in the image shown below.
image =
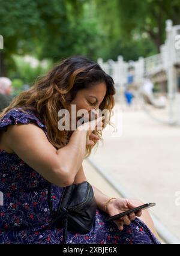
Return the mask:
POLYGON ((104 132, 104 142, 90 159, 134 198, 157 203, 151 212, 180 239, 180 128, 157 123, 143 111, 116 115, 122 136, 104 132))

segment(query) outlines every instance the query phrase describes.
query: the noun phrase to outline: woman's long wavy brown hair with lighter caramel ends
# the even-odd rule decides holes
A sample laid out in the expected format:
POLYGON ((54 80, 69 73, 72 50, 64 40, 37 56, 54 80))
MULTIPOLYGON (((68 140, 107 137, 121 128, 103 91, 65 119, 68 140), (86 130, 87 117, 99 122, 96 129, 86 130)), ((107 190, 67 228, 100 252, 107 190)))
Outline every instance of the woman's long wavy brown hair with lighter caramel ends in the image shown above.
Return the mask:
MULTIPOLYGON (((5 108, 0 118, 13 108, 32 109, 36 111, 47 127, 47 136, 50 143, 56 148, 67 145, 72 131, 58 130, 58 111, 67 109, 67 106, 76 97, 79 90, 84 90, 97 85, 106 84, 106 96, 100 105, 100 110, 107 109, 110 115, 115 100, 115 87, 113 79, 107 75, 96 63, 84 56, 72 56, 62 59, 47 75, 39 77, 34 85, 16 96, 10 105, 5 108)), ((101 131, 93 131, 100 139, 101 131)), ((95 144, 97 141, 94 141, 95 144)), ((86 146, 86 157, 91 154, 91 146, 86 146)))

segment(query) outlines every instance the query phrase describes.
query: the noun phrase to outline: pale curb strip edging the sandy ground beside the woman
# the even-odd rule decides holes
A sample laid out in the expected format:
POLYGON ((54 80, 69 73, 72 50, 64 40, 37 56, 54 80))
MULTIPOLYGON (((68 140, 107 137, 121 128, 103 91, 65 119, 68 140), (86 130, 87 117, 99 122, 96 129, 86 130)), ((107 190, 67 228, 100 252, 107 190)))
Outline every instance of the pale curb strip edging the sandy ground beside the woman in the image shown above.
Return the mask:
MULTIPOLYGON (((94 163, 93 160, 91 160, 89 157, 86 158, 88 162, 107 180, 107 182, 124 198, 133 198, 133 196, 128 192, 127 189, 125 189, 121 184, 117 183, 112 177, 110 177, 109 174, 103 171, 100 166, 97 165, 97 163, 94 163)), ((152 220, 154 221, 155 228, 157 230, 157 233, 160 235, 160 237, 164 240, 164 242, 168 244, 180 244, 180 240, 178 237, 174 236, 172 233, 170 233, 169 230, 167 230, 166 227, 155 217, 151 214, 152 220)))

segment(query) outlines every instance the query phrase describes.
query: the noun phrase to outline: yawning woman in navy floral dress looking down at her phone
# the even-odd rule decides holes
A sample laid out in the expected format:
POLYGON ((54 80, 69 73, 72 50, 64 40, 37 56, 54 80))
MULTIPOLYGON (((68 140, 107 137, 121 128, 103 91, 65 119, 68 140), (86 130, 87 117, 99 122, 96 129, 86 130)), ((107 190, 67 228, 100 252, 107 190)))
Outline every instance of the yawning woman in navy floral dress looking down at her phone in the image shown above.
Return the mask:
MULTIPOLYGON (((74 56, 64 59, 4 109, 0 115, 0 190, 4 194, 0 243, 62 243, 62 228, 46 227, 52 219, 47 187, 53 184, 51 198, 56 208, 64 186, 86 180, 83 159, 101 139, 101 125, 105 126, 97 109, 110 114, 114 94, 113 79, 98 64, 74 56), (59 110, 66 109, 71 117, 74 105, 89 117, 95 111, 97 123, 89 121, 88 129, 82 129, 87 123, 76 130, 59 129, 59 110)), ((79 117, 70 119, 80 121, 79 117)), ((160 243, 147 210, 136 213, 141 219, 132 213, 118 221, 104 221, 139 206, 140 201, 109 198, 93 189, 97 201, 94 226, 88 234, 68 231, 67 243, 160 243)))

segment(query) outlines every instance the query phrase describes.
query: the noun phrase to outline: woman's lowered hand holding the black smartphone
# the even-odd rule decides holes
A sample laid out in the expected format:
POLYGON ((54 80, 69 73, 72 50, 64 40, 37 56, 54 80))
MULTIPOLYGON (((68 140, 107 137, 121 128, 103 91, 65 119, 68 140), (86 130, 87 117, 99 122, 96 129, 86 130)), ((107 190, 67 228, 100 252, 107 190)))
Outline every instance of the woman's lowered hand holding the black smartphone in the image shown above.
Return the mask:
MULTIPOLYGON (((107 213, 110 216, 113 216, 143 204, 143 203, 140 203, 140 202, 137 203, 137 202, 138 202, 137 200, 133 200, 133 199, 116 198, 107 204, 107 213)), ((134 221, 136 216, 140 217, 141 215, 142 215, 142 210, 139 210, 139 212, 130 213, 129 215, 125 215, 122 218, 116 219, 113 222, 115 222, 119 230, 123 230, 124 224, 130 225, 131 221, 134 221)))

